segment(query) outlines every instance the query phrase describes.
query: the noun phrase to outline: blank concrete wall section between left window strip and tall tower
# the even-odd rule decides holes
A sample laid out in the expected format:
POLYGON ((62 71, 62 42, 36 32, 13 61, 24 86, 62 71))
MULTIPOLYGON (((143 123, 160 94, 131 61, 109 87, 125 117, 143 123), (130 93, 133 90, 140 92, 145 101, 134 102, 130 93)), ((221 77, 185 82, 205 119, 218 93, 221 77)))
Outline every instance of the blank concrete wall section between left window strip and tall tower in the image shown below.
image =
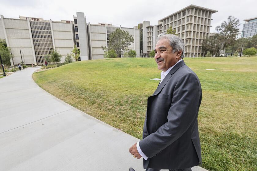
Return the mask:
POLYGON ((72 24, 52 21, 51 29, 55 50, 61 54, 61 62, 64 62, 67 53, 72 53, 71 51, 74 48, 72 24))

